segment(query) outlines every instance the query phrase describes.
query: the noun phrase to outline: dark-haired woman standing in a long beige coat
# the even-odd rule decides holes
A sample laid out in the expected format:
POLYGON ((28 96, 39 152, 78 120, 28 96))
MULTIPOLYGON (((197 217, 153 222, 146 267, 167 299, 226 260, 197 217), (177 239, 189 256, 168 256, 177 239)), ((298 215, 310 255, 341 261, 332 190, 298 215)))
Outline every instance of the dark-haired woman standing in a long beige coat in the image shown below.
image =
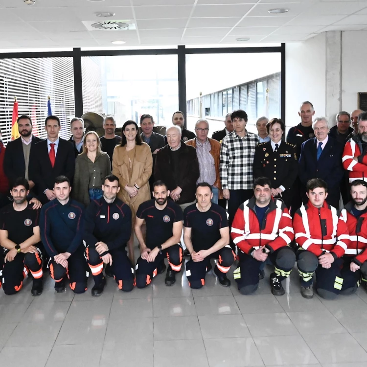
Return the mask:
POLYGON ((149 177, 152 174, 152 165, 150 147, 141 141, 137 123, 126 121, 122 126, 121 145, 114 150, 112 173, 118 177, 120 184, 118 198, 129 205, 132 212, 131 237, 127 245, 133 264, 135 215, 139 205, 150 199, 149 177))

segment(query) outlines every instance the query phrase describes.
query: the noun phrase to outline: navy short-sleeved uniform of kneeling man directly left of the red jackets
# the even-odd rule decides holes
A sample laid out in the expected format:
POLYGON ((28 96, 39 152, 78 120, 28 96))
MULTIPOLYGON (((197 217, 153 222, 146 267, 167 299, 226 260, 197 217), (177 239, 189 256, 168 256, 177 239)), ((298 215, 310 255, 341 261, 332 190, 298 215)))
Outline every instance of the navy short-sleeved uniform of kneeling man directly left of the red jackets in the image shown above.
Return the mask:
MULTIPOLYGON (((226 210, 217 204, 211 204, 209 210, 201 212, 196 204, 184 210, 184 227, 191 228, 191 242, 195 252, 208 250, 220 239, 220 229, 229 227, 226 210)), ((211 253, 203 261, 189 260, 186 263, 186 277, 191 288, 201 288, 205 284, 205 275, 210 259, 218 259, 215 271, 228 273, 235 254, 227 245, 211 253)))

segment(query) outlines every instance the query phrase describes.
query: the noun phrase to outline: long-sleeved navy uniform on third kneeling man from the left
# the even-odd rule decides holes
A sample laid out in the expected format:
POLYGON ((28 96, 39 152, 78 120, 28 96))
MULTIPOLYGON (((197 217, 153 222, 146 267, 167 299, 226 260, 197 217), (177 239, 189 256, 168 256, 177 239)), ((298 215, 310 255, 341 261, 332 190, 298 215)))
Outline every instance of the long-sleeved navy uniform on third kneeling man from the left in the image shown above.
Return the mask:
POLYGON ((93 200, 85 216, 84 240, 87 244, 86 256, 94 282, 100 284, 103 279, 103 261, 101 256, 110 253, 111 270, 118 288, 130 292, 134 288, 134 268, 126 252, 126 243, 131 234, 131 209, 119 199, 111 204, 102 196, 93 200), (97 242, 104 242, 108 251, 99 255, 95 249, 97 242))

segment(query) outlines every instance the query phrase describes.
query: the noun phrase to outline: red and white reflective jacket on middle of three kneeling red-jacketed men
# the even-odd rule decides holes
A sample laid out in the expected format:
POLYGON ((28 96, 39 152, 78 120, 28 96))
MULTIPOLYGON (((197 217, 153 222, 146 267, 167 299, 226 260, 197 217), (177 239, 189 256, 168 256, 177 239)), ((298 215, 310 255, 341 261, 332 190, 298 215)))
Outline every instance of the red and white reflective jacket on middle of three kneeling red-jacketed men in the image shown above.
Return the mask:
POLYGON ((350 243, 342 215, 326 202, 321 208, 310 202, 302 205, 295 213, 293 228, 298 246, 318 257, 323 252, 330 252, 334 258, 339 258, 350 243))

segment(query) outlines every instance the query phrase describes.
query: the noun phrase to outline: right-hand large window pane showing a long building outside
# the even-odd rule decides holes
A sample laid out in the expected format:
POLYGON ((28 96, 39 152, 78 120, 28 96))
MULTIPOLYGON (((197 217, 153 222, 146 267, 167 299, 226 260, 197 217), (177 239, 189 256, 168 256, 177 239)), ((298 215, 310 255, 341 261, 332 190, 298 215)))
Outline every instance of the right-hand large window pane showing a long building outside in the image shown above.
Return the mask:
POLYGON ((236 109, 247 112, 252 132, 258 117, 280 118, 280 57, 280 52, 186 55, 187 106, 198 106, 187 109, 187 128, 206 118, 211 132, 223 129, 225 116, 236 109))

